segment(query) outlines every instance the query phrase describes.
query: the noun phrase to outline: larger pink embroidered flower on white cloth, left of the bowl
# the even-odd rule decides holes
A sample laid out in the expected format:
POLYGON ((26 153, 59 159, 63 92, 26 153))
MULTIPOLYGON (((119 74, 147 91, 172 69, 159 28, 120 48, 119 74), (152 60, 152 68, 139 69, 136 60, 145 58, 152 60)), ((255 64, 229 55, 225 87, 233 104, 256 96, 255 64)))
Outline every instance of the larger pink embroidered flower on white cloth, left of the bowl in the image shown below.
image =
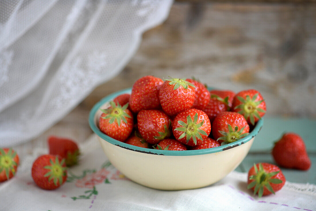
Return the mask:
POLYGON ((82 179, 76 181, 76 186, 79 188, 92 189, 93 186, 104 182, 106 176, 110 174, 110 171, 106 169, 100 169, 99 171, 86 175, 82 179))

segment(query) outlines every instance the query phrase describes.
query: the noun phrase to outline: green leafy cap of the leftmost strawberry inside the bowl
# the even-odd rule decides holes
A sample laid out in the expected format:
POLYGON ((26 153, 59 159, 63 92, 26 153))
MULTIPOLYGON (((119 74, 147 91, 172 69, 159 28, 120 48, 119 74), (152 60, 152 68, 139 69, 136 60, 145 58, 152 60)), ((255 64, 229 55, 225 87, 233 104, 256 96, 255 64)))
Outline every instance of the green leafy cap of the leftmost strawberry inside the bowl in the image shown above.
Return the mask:
POLYGON ((126 118, 131 118, 125 110, 128 107, 128 103, 126 103, 123 107, 121 105, 116 105, 113 101, 110 102, 111 107, 108 109, 100 109, 101 112, 107 114, 105 117, 101 117, 103 119, 110 119, 109 123, 112 124, 115 120, 118 125, 121 125, 121 121, 127 123, 126 118))

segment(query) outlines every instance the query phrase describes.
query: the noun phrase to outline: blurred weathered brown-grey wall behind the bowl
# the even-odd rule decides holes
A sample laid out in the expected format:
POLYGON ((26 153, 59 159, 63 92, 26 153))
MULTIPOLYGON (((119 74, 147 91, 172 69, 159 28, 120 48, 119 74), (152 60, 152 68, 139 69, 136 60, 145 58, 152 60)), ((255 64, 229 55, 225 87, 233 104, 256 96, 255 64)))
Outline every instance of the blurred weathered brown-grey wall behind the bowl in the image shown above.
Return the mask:
POLYGON ((176 2, 125 69, 81 105, 90 108, 144 75, 258 89, 267 115, 315 118, 316 4, 176 2))

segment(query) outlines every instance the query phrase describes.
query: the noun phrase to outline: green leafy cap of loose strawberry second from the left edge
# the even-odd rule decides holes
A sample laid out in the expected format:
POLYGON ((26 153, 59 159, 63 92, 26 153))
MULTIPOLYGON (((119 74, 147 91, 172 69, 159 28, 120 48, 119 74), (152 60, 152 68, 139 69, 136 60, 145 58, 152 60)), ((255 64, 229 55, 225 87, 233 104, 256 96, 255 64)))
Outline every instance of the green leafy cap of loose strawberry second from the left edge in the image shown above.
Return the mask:
POLYGON ((48 181, 53 180, 54 185, 57 186, 57 182, 59 185, 63 183, 63 176, 66 175, 66 167, 62 165, 65 163, 65 159, 62 159, 59 163, 58 157, 56 156, 55 162, 50 159, 50 165, 44 166, 44 169, 47 169, 48 172, 44 175, 44 177, 49 177, 48 181))

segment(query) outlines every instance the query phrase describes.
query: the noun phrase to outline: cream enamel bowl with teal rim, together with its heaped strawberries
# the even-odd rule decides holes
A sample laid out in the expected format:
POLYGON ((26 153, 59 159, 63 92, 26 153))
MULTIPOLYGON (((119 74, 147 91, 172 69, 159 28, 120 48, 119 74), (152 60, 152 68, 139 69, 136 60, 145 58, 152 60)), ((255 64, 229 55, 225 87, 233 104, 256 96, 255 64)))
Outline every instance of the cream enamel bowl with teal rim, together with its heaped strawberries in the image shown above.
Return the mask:
POLYGON ((193 79, 144 76, 95 104, 89 125, 113 166, 132 181, 194 189, 237 168, 265 111, 253 89, 235 94, 193 79))

